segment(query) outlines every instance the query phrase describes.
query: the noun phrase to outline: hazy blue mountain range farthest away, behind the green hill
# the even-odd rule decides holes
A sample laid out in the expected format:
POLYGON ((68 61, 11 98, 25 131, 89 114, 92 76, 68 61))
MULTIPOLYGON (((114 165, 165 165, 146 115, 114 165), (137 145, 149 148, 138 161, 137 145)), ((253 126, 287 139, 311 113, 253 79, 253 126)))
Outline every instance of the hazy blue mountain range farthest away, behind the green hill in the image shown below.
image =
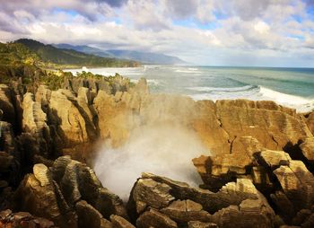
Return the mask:
POLYGON ((110 49, 110 50, 102 50, 100 48, 92 48, 86 45, 82 46, 74 46, 70 44, 54 44, 53 46, 57 48, 66 48, 66 49, 74 49, 76 51, 81 51, 87 54, 96 55, 99 57, 118 57, 124 59, 130 59, 139 61, 145 64, 187 64, 187 62, 183 61, 179 57, 171 57, 163 54, 157 54, 152 52, 140 52, 133 50, 118 50, 118 49, 110 49))

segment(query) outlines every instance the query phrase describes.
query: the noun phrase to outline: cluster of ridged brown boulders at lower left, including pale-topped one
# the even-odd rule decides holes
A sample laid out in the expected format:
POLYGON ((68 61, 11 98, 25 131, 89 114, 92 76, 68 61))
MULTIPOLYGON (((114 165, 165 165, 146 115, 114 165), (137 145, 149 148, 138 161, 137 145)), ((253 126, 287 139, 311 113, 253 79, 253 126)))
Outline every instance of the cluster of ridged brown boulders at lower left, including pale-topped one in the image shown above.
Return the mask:
POLYGON ((91 168, 68 156, 49 170, 35 164, 14 195, 14 208, 61 227, 111 227, 110 215, 127 218, 122 200, 100 184, 91 168))

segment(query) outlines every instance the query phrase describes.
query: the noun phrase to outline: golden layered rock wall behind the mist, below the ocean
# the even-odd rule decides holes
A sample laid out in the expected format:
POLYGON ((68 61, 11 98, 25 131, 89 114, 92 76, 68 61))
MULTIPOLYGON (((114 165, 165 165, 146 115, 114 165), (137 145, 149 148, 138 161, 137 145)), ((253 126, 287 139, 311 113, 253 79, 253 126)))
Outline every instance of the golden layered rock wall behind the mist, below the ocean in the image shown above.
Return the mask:
MULTIPOLYGON (((129 80, 115 77, 110 81, 109 89, 94 82, 91 86, 87 79, 80 80, 82 82, 77 85, 72 82, 65 86, 69 90, 51 92, 47 87, 39 86, 36 101, 31 101, 31 95, 23 101, 24 108, 30 101, 35 102, 33 107, 40 103, 41 110, 47 114, 52 138, 50 147, 74 157, 87 152, 99 136, 118 147, 126 142, 135 127, 169 123, 194 129, 213 154, 241 153, 245 144, 240 141, 246 136, 256 138, 264 148, 294 153, 301 142, 312 137, 310 115, 301 118, 295 110, 273 101, 196 102, 184 96, 149 94, 144 79, 131 87, 129 80)), ((101 80, 104 84, 109 82, 101 80)), ((3 89, 6 93, 8 90, 3 89)), ((9 101, 10 97, 5 95, 3 102, 9 105, 7 113, 14 111, 9 101)), ((24 123, 32 121, 28 119, 30 109, 25 110, 29 114, 25 114, 24 123)), ((40 112, 38 108, 36 110, 40 112)), ((244 155, 243 158, 236 169, 243 171, 243 165, 248 162, 244 155)))

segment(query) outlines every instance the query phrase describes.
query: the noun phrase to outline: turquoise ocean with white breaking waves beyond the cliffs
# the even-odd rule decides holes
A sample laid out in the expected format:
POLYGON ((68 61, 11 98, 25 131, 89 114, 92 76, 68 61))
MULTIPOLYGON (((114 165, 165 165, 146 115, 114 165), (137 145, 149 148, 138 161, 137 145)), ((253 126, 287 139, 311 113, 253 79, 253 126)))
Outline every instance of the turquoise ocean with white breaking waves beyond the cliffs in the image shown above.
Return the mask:
MULTIPOLYGON (((314 68, 141 66, 89 68, 93 74, 145 77, 152 93, 177 93, 196 101, 270 100, 300 112, 314 109, 314 68)), ((68 70, 74 75, 83 69, 68 70)))

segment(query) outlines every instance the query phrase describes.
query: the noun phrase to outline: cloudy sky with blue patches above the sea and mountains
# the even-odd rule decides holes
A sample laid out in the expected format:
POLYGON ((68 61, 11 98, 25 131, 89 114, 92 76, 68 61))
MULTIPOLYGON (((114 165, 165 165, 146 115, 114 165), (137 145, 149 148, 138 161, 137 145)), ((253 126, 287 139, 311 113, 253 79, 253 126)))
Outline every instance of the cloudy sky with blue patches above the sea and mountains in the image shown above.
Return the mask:
POLYGON ((20 38, 197 66, 314 67, 314 0, 0 0, 0 41, 20 38))

